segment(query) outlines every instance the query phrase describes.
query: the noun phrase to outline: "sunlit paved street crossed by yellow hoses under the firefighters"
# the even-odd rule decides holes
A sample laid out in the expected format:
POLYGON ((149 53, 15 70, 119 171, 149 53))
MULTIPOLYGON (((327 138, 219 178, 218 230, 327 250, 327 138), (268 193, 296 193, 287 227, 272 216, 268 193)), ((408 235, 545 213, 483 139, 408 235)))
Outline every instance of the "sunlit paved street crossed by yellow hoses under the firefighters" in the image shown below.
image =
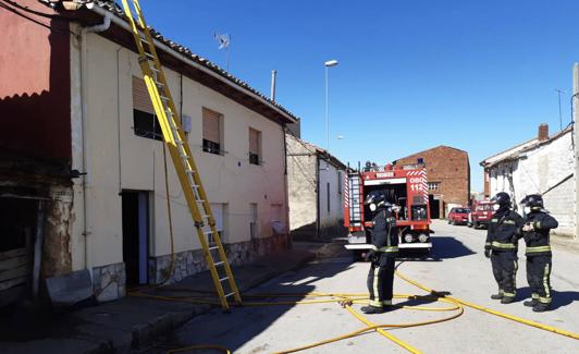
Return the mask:
MULTIPOLYGON (((489 298, 495 284, 490 261, 482 255, 484 230, 452 227, 435 221, 432 257, 402 259, 398 271, 438 291, 449 291, 458 298, 509 315, 579 332, 579 253, 556 243, 552 285, 553 310, 535 314, 521 301, 502 305, 489 298)), ((522 254, 522 252, 519 252, 522 254)), ((345 254, 309 264, 254 289, 252 293, 365 292, 368 264, 352 263, 345 254)), ((525 257, 519 259, 519 294, 530 295, 526 283, 525 257)), ((395 280, 396 293, 424 294, 403 280, 395 280)), ((297 298, 296 298, 297 300, 297 298)), ((405 300, 397 300, 397 303, 405 300)), ((407 303, 417 305, 418 303, 407 303)), ((423 306, 442 307, 442 303, 423 306)), ((359 309, 360 305, 354 305, 359 309)), ((451 316, 454 312, 397 309, 368 316, 377 324, 407 324, 451 316)), ((365 325, 338 304, 244 307, 233 314, 214 310, 187 322, 173 338, 151 352, 192 344, 220 344, 235 353, 272 353, 341 335, 365 325)), ((578 353, 579 341, 528 327, 472 308, 456 319, 414 328, 391 329, 390 333, 424 353, 578 353)), ((305 353, 405 353, 386 338, 369 332, 305 353)))

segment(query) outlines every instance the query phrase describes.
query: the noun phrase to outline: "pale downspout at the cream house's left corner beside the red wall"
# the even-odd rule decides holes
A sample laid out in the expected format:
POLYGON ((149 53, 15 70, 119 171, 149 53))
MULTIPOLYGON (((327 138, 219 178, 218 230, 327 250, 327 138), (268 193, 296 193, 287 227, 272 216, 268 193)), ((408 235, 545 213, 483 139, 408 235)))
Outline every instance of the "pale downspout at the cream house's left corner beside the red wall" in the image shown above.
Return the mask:
POLYGON ((85 237, 84 242, 84 264, 85 269, 88 269, 88 236, 90 235, 91 231, 88 223, 88 203, 87 203, 87 184, 90 184, 90 172, 89 172, 89 163, 88 163, 88 154, 87 154, 87 147, 88 147, 88 134, 87 134, 87 40, 86 35, 87 33, 99 33, 109 29, 111 25, 112 14, 108 13, 104 15, 104 19, 101 24, 86 27, 81 29, 81 125, 82 125, 82 132, 83 132, 83 172, 85 174, 83 175, 83 217, 84 217, 84 232, 83 235, 85 237))

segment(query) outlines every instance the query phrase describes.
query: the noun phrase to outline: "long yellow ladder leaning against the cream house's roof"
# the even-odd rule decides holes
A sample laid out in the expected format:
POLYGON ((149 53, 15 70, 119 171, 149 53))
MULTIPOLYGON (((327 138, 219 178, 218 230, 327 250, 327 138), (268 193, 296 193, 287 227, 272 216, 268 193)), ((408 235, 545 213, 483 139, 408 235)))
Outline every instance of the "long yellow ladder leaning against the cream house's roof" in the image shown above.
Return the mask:
POLYGON ((178 113, 171 97, 152 37, 145 23, 138 0, 132 0, 132 3, 138 16, 138 23, 133 19, 128 0, 123 0, 124 12, 135 36, 140 70, 143 71, 152 106, 155 107, 155 113, 163 132, 164 143, 173 159, 175 171, 177 172, 185 199, 187 200, 195 228, 197 229, 197 235, 199 236, 209 271, 213 278, 213 284, 218 292, 221 306, 224 310, 229 310, 229 297, 233 296, 235 303, 241 304, 242 296, 235 284, 233 272, 231 271, 223 244, 221 243, 221 237, 217 231, 215 219, 207 200, 207 194, 201 184, 199 170, 193 160, 189 144, 181 127, 178 113), (214 260, 215 256, 218 261, 214 260), (220 269, 224 270, 224 273, 222 271, 220 272, 220 269), (229 283, 229 289, 225 286, 226 283, 229 283))

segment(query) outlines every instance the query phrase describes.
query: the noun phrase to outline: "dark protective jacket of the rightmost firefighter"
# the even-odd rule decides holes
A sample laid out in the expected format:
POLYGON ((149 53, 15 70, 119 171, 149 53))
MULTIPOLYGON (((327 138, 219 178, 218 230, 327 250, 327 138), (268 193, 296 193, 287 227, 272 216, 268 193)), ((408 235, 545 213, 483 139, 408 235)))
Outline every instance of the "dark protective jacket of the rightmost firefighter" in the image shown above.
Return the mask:
POLYGON ((525 218, 525 223, 531 224, 534 230, 522 233, 522 239, 527 244, 525 255, 551 256, 551 245, 549 242, 549 232, 556 229, 559 224, 555 218, 544 211, 531 211, 525 218))

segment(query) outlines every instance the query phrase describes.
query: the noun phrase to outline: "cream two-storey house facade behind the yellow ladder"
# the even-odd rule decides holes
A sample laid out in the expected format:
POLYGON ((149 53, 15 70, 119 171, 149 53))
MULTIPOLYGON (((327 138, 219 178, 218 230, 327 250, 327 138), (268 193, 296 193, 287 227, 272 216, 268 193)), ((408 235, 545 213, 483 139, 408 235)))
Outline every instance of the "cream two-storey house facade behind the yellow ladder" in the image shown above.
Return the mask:
MULTIPOLYGON (((84 33, 70 47, 72 168, 86 173, 73 186, 72 271, 91 272, 99 301, 206 269, 138 56, 119 45, 130 33, 113 17, 115 33, 84 33)), ((182 48, 158 51, 230 263, 288 248, 284 138, 295 117, 182 48)))

